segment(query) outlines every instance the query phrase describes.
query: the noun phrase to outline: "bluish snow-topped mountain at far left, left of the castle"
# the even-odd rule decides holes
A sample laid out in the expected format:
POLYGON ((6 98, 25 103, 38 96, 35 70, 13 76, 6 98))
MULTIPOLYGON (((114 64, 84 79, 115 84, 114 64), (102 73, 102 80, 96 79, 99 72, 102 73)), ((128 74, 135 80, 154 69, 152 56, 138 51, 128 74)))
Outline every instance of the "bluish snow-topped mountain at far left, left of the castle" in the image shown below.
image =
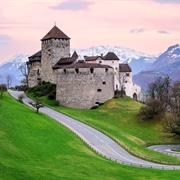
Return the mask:
POLYGON ((12 79, 11 86, 20 85, 21 80, 24 78, 19 67, 28 61, 28 55, 18 54, 9 61, 0 65, 0 84, 6 84, 7 77, 12 79))

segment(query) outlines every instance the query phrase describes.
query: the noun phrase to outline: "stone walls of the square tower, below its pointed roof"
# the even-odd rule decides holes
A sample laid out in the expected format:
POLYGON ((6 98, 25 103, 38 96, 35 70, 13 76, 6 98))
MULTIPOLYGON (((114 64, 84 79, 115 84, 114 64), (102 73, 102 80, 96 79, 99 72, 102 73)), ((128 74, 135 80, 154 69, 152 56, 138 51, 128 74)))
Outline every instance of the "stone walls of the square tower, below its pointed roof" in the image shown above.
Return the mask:
POLYGON ((52 67, 63 57, 70 56, 69 39, 49 39, 42 41, 42 81, 55 83, 52 67))

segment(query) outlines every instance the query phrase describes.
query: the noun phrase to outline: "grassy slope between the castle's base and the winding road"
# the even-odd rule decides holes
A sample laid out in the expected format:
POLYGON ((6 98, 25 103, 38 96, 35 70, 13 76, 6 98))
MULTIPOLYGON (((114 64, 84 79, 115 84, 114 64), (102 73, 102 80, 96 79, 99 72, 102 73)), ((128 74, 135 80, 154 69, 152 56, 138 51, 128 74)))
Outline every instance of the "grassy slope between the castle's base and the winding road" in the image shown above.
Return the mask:
POLYGON ((142 104, 131 98, 113 98, 93 110, 56 106, 54 101, 46 97, 42 100, 51 108, 109 134, 131 154, 163 164, 180 164, 179 158, 146 148, 148 144, 177 144, 180 143, 180 139, 169 137, 164 133, 160 120, 142 121, 138 119, 137 113, 142 104))

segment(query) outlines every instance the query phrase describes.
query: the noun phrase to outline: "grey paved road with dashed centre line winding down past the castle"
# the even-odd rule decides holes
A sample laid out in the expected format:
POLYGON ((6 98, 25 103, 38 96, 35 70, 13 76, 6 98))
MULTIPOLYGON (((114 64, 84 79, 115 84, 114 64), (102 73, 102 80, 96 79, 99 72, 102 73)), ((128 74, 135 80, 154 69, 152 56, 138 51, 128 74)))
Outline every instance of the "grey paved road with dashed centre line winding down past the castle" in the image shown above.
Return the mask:
MULTIPOLYGON (((9 90, 8 92, 14 98, 18 98, 20 94, 24 94, 21 91, 9 90)), ((26 105, 32 107, 29 104, 30 101, 32 100, 29 99, 27 96, 23 98, 23 102, 26 105)), ((59 123, 68 127, 75 134, 77 134, 85 143, 87 143, 93 150, 95 150, 97 153, 108 159, 114 160, 118 163, 140 166, 140 167, 180 169, 180 166, 156 164, 132 156, 122 147, 120 147, 116 142, 114 142, 112 139, 102 134, 101 132, 97 131, 96 129, 93 129, 92 127, 89 127, 86 124, 76 121, 48 107, 40 108, 40 112, 52 117, 59 123)))

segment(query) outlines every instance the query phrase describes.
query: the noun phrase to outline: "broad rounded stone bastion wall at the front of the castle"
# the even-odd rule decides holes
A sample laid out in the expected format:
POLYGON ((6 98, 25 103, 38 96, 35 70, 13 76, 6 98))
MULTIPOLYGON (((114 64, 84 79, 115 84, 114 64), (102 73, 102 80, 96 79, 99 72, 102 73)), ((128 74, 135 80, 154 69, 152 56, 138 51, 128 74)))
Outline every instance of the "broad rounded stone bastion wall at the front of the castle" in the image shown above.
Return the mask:
POLYGON ((59 69, 56 100, 60 105, 90 109, 114 96, 113 68, 59 69))

